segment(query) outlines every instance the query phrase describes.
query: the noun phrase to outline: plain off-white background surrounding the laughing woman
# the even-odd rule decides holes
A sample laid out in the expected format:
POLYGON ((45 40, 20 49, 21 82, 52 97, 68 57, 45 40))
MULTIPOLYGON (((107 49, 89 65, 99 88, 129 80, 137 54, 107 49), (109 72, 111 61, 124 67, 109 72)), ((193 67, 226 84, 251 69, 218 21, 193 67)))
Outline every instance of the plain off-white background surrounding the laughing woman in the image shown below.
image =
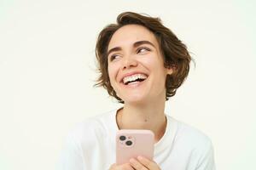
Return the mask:
POLYGON ((93 88, 95 45, 124 11, 160 17, 195 59, 166 113, 207 133, 219 170, 256 169, 255 6, 0 0, 0 169, 54 169, 75 123, 119 106, 93 88))

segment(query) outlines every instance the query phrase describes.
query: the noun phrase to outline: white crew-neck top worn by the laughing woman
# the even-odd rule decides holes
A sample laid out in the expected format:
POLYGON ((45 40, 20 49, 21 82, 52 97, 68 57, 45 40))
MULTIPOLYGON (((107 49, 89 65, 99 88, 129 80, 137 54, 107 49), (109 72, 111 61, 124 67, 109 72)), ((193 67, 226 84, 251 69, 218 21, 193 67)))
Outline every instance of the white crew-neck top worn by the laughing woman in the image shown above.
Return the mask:
MULTIPOLYGON (((80 122, 68 134, 59 170, 107 170, 115 162, 116 112, 80 122)), ((215 170, 212 142, 206 135, 166 115, 164 136, 154 144, 161 170, 215 170)))

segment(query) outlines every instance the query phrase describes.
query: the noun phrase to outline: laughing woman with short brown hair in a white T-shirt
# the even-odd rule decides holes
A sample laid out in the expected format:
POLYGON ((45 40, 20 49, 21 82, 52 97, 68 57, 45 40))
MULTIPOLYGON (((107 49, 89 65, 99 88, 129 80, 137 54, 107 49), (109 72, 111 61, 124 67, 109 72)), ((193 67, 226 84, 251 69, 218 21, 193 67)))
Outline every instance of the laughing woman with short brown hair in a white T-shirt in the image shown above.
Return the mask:
POLYGON ((61 156, 66 170, 214 170, 211 140, 165 114, 189 73, 186 46, 158 18, 125 12, 105 27, 96 43, 100 77, 123 106, 79 123, 67 137, 61 156), (119 129, 154 133, 154 160, 135 157, 115 164, 119 129))

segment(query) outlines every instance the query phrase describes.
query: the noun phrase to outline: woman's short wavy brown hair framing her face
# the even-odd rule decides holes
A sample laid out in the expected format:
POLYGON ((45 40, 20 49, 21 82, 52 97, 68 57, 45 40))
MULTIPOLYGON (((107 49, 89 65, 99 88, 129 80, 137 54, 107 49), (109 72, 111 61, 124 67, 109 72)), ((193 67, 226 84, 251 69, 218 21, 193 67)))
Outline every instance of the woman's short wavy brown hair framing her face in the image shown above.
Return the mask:
POLYGON ((154 33, 160 51, 163 54, 165 67, 172 67, 172 75, 166 77, 166 100, 176 94, 189 74, 189 63, 191 57, 187 47, 175 34, 166 26, 161 24, 160 18, 153 18, 145 14, 125 12, 117 17, 117 24, 106 26, 99 34, 96 42, 96 59, 98 61, 98 71, 100 73, 95 86, 102 86, 108 90, 108 94, 118 99, 119 103, 124 103, 120 99, 110 84, 108 76, 108 43, 113 37, 113 33, 120 27, 126 25, 139 25, 146 27, 154 33))

